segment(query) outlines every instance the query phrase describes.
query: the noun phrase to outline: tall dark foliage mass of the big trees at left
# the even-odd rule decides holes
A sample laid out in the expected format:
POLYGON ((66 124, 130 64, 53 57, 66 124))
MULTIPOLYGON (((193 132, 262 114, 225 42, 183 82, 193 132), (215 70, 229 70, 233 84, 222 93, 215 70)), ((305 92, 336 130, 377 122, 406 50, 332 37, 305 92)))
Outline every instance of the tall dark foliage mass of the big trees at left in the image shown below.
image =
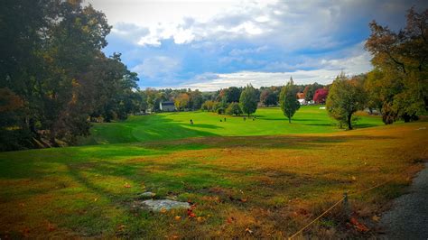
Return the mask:
POLYGON ((89 133, 89 115, 126 119, 135 109, 136 74, 101 51, 104 14, 79 0, 6 0, 0 9, 0 88, 23 101, 14 129, 74 143, 89 133))

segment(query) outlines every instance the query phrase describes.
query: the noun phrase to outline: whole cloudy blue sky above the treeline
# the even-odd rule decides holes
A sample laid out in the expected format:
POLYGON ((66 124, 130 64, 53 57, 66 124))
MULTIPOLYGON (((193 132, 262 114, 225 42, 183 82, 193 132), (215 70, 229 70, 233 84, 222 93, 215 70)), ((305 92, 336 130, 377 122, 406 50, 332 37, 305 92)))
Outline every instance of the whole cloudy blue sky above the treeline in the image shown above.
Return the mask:
POLYGON ((372 69, 368 23, 405 26, 420 0, 86 0, 107 16, 108 56, 122 53, 140 88, 212 91, 329 84, 372 69))

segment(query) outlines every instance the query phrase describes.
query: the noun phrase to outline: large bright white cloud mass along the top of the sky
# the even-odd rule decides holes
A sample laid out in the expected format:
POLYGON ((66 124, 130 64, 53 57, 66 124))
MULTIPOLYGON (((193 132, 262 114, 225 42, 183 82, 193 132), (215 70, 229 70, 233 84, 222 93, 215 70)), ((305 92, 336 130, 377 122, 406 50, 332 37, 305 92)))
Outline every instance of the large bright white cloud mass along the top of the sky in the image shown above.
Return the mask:
MULTIPOLYGON (((149 1, 88 0, 107 14, 114 29, 132 23, 149 29, 140 45, 159 46, 163 40, 176 44, 216 39, 253 39, 286 50, 328 49, 342 42, 334 38, 360 18, 386 19, 412 3, 393 1, 149 1), (378 9, 382 9, 379 13, 378 9), (348 26, 349 25, 349 26, 348 26)), ((402 14, 403 15, 403 14, 402 14)))

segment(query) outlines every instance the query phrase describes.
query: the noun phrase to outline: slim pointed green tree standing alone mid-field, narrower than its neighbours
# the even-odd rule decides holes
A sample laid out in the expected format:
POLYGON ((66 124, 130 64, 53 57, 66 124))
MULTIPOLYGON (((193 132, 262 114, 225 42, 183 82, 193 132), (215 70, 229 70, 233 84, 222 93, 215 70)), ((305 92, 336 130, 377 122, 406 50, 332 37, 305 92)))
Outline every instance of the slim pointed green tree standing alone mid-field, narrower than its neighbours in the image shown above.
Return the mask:
POLYGON ((281 105, 281 110, 283 110, 284 115, 288 118, 288 122, 292 123, 292 117, 294 113, 299 110, 300 103, 297 101, 297 91, 293 83, 293 78, 290 78, 290 81, 281 89, 279 96, 279 103, 281 105))

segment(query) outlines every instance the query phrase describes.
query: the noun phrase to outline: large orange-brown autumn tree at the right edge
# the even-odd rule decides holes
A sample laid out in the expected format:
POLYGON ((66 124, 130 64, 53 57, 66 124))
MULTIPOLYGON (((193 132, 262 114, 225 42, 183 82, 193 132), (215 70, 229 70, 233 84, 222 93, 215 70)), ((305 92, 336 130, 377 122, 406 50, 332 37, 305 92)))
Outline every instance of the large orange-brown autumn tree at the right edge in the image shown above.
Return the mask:
MULTIPOLYGON (((376 91, 386 124, 396 118, 405 122, 428 111, 428 10, 408 11, 403 30, 393 32, 375 21, 366 49, 373 55, 375 69, 368 76, 368 87, 376 91)), ((375 97, 375 96, 371 96, 375 97)), ((371 98, 375 99, 375 98, 371 98)))

